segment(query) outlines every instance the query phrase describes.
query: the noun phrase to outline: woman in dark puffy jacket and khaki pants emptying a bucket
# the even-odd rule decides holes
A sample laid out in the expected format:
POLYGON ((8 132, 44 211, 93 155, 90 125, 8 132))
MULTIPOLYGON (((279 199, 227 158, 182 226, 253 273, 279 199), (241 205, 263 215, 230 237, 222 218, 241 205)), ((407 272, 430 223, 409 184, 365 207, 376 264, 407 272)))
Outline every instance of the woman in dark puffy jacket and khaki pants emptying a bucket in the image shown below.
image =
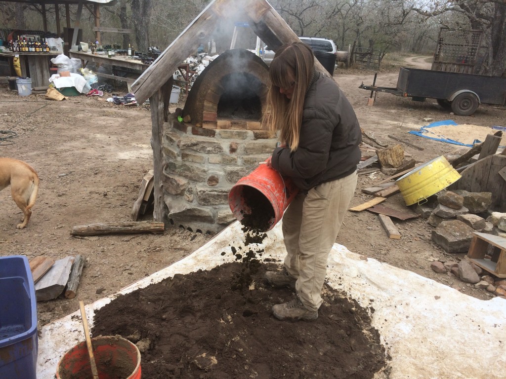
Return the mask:
POLYGON ((281 46, 269 76, 271 128, 280 131, 281 144, 266 163, 300 191, 283 215, 283 269, 265 277, 297 292, 272 307, 276 318, 316 320, 327 258, 357 186, 361 130, 335 81, 315 69, 308 45, 281 46))

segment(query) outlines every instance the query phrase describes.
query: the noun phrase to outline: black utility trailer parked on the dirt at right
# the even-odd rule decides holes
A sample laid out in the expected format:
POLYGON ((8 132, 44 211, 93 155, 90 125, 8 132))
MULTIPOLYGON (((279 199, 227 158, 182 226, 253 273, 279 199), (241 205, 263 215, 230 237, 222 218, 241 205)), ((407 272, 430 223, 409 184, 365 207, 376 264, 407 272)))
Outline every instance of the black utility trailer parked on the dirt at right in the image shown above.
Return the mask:
POLYGON ((392 93, 413 101, 436 99, 438 104, 459 116, 470 116, 480 104, 506 104, 506 78, 458 72, 421 70, 401 67, 397 87, 362 83, 359 88, 373 92, 392 93))

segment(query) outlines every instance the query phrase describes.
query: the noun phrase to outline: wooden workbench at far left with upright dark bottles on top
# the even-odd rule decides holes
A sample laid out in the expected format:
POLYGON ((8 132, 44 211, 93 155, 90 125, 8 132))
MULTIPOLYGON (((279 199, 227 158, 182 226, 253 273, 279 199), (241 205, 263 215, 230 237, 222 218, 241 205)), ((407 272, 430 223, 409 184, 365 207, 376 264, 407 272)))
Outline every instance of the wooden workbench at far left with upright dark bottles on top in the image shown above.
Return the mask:
POLYGON ((32 81, 32 89, 45 89, 49 86, 49 60, 52 57, 60 55, 59 52, 50 53, 6 53, 0 52, 0 57, 9 58, 9 65, 14 69, 14 57, 19 56, 19 65, 21 67, 21 76, 29 77, 32 81))

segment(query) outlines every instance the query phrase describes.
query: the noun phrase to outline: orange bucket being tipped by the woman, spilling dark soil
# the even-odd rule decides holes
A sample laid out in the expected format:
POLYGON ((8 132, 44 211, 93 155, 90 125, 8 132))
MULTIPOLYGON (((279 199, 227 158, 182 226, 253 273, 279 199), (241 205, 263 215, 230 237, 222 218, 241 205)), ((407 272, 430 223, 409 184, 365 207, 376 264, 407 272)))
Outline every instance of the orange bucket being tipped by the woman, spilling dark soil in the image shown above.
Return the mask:
POLYGON ((228 202, 232 214, 243 225, 267 231, 281 220, 298 192, 289 178, 262 164, 234 184, 228 202))

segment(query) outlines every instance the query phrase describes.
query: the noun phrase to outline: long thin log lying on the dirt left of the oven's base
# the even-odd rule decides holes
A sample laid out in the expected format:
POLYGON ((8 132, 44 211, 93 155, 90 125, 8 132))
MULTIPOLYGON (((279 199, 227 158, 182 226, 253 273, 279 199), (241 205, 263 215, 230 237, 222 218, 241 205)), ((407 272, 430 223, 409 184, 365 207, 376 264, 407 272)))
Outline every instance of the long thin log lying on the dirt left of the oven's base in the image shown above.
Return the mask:
POLYGON ((99 222, 72 227, 72 235, 163 233, 165 224, 152 221, 99 222))

